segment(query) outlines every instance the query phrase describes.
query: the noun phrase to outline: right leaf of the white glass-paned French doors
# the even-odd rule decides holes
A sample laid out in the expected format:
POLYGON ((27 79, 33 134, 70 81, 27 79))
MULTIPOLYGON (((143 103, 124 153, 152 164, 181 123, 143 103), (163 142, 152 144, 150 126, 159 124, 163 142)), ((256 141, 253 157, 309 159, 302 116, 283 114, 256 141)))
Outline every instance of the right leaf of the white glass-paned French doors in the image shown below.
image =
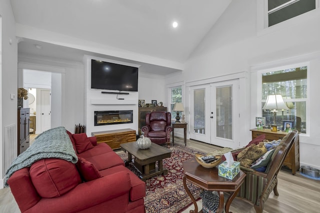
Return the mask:
POLYGON ((239 113, 234 103, 238 97, 238 80, 211 84, 211 144, 236 147, 234 127, 239 113))

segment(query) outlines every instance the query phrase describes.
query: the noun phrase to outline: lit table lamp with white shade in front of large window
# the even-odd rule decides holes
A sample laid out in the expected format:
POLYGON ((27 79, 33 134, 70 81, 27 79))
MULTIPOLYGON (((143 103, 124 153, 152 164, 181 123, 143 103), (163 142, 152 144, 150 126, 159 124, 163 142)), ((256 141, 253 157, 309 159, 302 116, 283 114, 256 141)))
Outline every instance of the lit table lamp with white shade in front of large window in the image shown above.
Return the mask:
POLYGON ((286 104, 283 101, 281 95, 268 95, 266 98, 265 104, 262 109, 270 109, 270 112, 273 112, 273 124, 271 125, 271 131, 276 132, 277 127, 275 123, 275 114, 280 109, 288 109, 286 104))

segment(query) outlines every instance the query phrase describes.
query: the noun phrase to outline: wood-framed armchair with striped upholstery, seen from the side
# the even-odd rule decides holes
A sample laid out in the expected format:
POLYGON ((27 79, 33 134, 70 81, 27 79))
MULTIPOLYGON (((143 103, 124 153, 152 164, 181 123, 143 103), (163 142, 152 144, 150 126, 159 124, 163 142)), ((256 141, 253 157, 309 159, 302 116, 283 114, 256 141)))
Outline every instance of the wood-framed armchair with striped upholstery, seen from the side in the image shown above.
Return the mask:
POLYGON ((237 198, 253 204, 256 213, 263 212, 263 205, 272 191, 274 195, 279 195, 277 191, 277 175, 296 140, 298 140, 298 132, 296 130, 293 130, 281 140, 272 154, 264 173, 240 167, 246 177, 237 194, 237 198))

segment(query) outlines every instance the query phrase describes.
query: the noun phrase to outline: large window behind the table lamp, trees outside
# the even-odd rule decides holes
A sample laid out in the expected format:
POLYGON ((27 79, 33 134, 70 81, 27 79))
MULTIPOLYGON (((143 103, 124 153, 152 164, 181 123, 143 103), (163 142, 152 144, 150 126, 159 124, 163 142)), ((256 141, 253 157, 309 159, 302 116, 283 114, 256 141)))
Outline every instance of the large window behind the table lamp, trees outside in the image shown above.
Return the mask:
MULTIPOLYGON (((292 120, 294 129, 306 133, 307 66, 262 73, 262 106, 268 95, 280 94, 288 110, 276 112, 275 123, 282 129, 283 120, 292 120)), ((273 124, 270 110, 262 110, 265 125, 273 124)))

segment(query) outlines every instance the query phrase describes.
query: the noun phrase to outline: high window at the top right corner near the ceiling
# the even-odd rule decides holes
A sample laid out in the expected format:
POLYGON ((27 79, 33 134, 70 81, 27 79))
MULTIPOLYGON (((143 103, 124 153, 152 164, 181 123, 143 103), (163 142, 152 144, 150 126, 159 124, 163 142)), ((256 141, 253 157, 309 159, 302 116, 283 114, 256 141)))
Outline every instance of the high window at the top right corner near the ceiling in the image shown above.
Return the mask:
POLYGON ((268 26, 316 8, 316 0, 267 0, 268 26))

